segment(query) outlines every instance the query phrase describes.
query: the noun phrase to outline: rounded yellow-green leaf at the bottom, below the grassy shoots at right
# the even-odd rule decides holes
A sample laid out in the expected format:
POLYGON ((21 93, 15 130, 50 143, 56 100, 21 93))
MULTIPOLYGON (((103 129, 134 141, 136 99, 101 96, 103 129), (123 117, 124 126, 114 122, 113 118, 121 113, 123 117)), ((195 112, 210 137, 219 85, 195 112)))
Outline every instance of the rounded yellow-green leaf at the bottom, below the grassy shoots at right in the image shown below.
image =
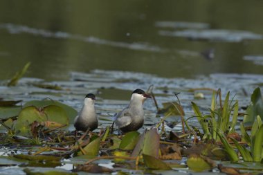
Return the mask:
POLYGON ((190 156, 190 158, 188 158, 187 165, 189 169, 193 170, 194 172, 203 172, 212 169, 213 167, 211 163, 197 154, 193 154, 190 156))

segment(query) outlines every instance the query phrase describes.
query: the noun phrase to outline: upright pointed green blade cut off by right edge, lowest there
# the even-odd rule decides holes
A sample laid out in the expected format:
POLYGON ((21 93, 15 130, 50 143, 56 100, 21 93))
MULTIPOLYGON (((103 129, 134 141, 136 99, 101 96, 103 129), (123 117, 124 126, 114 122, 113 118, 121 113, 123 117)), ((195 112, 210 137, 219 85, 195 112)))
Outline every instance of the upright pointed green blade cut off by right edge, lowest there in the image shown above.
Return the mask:
POLYGON ((263 142, 263 125, 258 129, 255 136, 252 138, 252 155, 254 162, 260 162, 262 160, 262 142, 263 142))

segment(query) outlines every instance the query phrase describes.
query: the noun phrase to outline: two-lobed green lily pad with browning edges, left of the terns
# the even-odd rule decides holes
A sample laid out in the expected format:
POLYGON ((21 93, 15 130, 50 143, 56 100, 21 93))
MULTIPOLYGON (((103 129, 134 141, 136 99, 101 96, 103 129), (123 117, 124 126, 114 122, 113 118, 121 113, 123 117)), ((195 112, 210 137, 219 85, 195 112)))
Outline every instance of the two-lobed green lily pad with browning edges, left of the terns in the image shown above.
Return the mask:
MULTIPOLYGON (((49 105, 38 109, 37 107, 25 107, 19 113, 15 123, 15 133, 21 136, 30 136, 30 124, 33 122, 45 122, 45 124, 69 125, 69 119, 66 112, 61 107, 49 105)), ((46 126, 52 128, 52 125, 46 126)))

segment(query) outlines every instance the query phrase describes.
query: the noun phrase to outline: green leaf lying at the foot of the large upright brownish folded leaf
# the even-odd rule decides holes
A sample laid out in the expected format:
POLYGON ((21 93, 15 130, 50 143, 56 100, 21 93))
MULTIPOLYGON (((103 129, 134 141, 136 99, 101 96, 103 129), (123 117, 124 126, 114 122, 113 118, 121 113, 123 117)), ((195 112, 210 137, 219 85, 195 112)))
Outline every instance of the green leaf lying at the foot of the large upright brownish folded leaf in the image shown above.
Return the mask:
POLYGON ((143 161, 151 169, 172 169, 169 165, 154 156, 143 154, 143 161))

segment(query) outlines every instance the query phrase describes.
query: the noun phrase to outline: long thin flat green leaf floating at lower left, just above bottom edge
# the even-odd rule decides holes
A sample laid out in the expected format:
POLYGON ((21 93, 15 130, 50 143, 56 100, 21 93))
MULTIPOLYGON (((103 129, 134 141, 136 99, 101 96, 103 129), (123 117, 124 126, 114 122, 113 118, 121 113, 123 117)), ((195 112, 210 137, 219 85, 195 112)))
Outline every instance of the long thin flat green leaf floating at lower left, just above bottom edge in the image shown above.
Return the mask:
POLYGON ((17 154, 13 155, 15 158, 25 159, 25 160, 38 160, 38 161, 60 161, 62 157, 59 156, 46 156, 46 155, 25 155, 17 154))

